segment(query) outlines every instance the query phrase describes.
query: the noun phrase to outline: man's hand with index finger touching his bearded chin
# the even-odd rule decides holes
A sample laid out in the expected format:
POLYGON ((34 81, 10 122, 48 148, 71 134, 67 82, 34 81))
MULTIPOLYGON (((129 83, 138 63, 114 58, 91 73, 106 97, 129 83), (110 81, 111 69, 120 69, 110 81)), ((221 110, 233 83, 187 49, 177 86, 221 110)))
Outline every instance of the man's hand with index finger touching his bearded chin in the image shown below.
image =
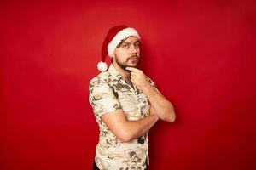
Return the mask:
POLYGON ((143 71, 133 67, 126 67, 125 69, 131 71, 131 82, 135 84, 138 89, 142 90, 149 84, 149 82, 147 81, 147 77, 146 75, 144 75, 143 71))

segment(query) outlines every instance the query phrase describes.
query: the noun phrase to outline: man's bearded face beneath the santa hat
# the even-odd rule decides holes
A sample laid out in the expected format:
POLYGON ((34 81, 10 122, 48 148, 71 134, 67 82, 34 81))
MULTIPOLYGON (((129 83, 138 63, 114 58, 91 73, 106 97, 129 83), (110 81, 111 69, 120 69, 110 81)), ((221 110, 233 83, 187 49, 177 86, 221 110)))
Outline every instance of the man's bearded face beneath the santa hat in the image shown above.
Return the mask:
POLYGON ((125 67, 136 67, 140 58, 140 42, 135 36, 125 39, 121 45, 115 49, 113 62, 125 70, 125 67))

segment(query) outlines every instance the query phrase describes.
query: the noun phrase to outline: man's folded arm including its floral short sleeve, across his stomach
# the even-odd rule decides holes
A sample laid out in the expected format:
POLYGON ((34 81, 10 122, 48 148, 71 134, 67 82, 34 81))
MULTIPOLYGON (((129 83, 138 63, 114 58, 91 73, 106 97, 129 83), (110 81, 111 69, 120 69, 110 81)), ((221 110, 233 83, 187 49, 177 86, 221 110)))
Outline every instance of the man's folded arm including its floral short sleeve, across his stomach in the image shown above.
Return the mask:
POLYGON ((114 96, 113 89, 99 77, 90 82, 89 101, 96 118, 102 119, 113 134, 124 142, 148 133, 159 119, 150 107, 148 116, 137 121, 129 121, 118 99, 114 96))

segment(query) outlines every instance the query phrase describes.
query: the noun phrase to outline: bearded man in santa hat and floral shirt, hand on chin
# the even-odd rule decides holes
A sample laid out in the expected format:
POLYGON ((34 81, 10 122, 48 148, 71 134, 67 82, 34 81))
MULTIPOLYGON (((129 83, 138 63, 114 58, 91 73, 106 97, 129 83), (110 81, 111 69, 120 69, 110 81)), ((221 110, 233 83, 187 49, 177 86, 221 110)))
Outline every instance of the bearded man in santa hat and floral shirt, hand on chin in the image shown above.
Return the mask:
POLYGON ((174 122, 172 103, 154 82, 137 69, 140 37, 127 26, 115 26, 102 46, 102 61, 112 58, 108 71, 90 81, 90 105, 100 127, 94 169, 146 169, 148 131, 159 119, 174 122), (107 52, 108 51, 108 52, 107 52))

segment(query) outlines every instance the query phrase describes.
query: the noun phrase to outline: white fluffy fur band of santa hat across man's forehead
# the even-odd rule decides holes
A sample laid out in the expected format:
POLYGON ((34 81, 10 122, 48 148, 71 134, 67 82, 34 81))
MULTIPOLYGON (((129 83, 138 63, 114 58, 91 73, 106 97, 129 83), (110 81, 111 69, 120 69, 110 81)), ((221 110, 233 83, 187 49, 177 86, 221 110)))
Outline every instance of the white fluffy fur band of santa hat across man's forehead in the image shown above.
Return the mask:
POLYGON ((141 39, 141 37, 138 35, 137 31, 134 28, 128 27, 124 30, 119 31, 115 37, 113 37, 113 40, 108 43, 108 56, 113 57, 113 52, 115 48, 118 46, 119 42, 121 42, 125 37, 135 36, 141 39))

